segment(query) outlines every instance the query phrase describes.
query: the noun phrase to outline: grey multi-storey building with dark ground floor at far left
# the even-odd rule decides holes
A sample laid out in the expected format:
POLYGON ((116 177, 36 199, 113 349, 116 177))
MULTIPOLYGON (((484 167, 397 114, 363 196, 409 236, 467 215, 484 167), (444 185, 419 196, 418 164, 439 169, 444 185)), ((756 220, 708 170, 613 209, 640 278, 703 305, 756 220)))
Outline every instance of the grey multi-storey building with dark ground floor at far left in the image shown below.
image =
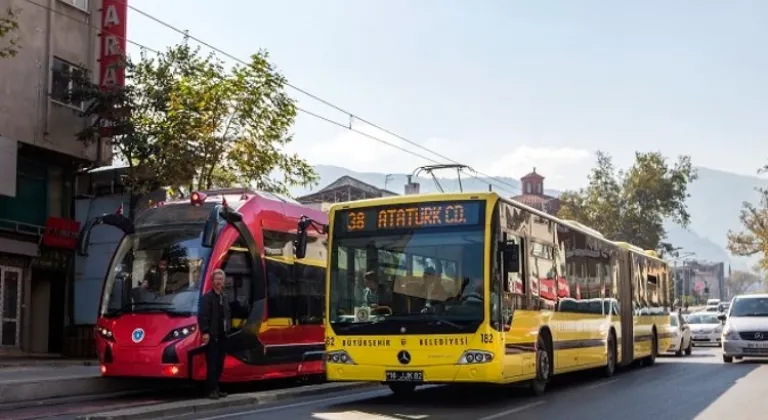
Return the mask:
POLYGON ((114 73, 104 66, 125 41, 108 32, 124 33, 127 6, 0 0, 0 10, 9 7, 20 50, 0 59, 0 355, 62 353, 79 231, 75 176, 112 160, 108 139, 76 138, 88 121, 72 77, 114 73))

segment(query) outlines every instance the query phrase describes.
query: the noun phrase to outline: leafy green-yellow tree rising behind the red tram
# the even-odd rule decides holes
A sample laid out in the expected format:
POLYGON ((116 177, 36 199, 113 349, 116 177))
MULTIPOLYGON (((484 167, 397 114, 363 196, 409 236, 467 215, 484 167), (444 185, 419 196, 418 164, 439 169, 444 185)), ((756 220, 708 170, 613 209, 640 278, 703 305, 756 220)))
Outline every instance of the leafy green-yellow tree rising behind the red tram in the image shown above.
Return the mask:
POLYGON ((259 51, 248 65, 227 70, 214 55, 183 43, 127 60, 124 87, 101 88, 84 75, 76 91, 90 104, 83 116, 93 123, 79 138, 93 142, 109 126, 133 198, 158 186, 286 193, 289 186, 310 185, 317 179, 312 167, 283 151, 296 107, 267 59, 259 51))

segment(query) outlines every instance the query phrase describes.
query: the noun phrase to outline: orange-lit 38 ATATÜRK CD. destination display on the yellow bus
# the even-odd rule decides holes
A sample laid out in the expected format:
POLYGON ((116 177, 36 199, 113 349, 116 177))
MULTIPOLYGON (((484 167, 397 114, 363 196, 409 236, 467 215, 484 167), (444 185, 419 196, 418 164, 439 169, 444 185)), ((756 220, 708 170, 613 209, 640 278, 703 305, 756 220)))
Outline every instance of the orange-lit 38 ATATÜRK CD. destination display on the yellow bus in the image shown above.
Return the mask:
POLYGON ((336 223, 346 232, 471 226, 482 223, 482 201, 415 203, 339 212, 336 223))

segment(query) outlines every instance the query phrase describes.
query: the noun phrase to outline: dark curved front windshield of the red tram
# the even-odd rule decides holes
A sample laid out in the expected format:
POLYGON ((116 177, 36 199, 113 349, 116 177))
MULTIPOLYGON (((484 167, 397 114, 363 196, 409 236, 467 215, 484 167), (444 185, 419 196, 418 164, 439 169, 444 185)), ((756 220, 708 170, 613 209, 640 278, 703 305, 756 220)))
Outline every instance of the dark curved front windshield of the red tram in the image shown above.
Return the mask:
POLYGON ((126 235, 107 274, 101 315, 195 314, 211 251, 201 246, 202 231, 203 225, 196 223, 126 235))

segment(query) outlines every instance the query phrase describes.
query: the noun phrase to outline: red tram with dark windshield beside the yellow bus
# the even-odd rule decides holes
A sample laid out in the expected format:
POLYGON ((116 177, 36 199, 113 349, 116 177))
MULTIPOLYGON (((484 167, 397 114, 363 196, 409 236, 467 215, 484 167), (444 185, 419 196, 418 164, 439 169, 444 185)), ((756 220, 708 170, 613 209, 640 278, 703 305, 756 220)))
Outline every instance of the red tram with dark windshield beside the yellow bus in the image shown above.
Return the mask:
POLYGON ((95 226, 124 233, 96 325, 102 375, 204 380, 196 313, 217 268, 233 317, 222 382, 324 374, 327 236, 310 236, 308 258, 294 260, 302 216, 328 223, 289 198, 231 189, 195 192, 135 220, 120 211, 89 220, 81 255, 95 226))

